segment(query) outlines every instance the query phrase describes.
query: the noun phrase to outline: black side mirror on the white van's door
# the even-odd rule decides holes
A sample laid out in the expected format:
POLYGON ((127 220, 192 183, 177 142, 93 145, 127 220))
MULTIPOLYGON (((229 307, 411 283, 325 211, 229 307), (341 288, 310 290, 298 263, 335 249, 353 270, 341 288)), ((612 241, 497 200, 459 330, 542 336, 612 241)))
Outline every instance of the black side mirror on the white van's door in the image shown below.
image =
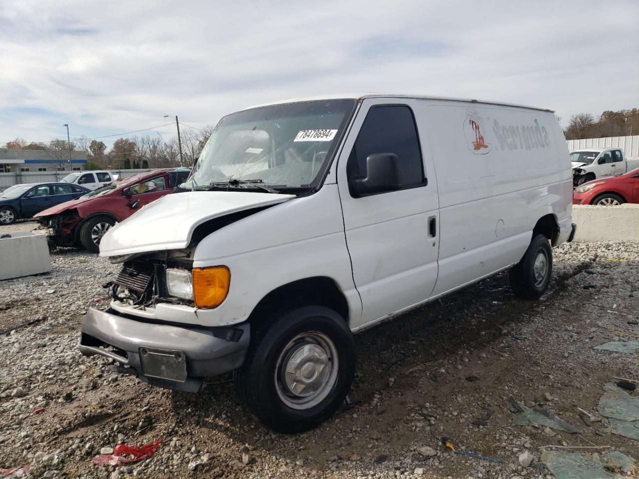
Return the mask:
POLYGON ((399 158, 394 153, 374 153, 366 158, 366 176, 353 178, 355 196, 373 195, 401 188, 399 158))

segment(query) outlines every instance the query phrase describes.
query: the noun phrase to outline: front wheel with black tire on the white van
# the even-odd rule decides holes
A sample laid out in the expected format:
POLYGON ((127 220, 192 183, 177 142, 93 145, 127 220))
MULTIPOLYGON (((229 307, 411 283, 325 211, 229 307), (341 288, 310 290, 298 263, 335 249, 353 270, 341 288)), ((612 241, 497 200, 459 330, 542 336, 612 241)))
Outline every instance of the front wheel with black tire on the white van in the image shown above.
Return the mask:
MULTIPOLYGON (((251 330, 244 365, 235 372, 236 390, 244 406, 270 429, 288 434, 312 429, 330 418, 346 398, 355 376, 355 344, 344 318, 329 308, 305 306, 268 314, 259 323, 264 326, 251 330), (327 359, 324 369, 318 369, 322 352, 327 353, 327 359), (315 392, 296 395, 286 385, 295 364, 303 365, 297 368, 300 375, 312 379, 325 374, 327 379, 318 381, 323 385, 315 392), (289 365, 287 374, 285 365, 289 365), (325 372, 328 365, 331 367, 325 372)), ((309 386, 298 381, 293 385, 309 386)), ((310 386, 299 392, 314 389, 310 386)))

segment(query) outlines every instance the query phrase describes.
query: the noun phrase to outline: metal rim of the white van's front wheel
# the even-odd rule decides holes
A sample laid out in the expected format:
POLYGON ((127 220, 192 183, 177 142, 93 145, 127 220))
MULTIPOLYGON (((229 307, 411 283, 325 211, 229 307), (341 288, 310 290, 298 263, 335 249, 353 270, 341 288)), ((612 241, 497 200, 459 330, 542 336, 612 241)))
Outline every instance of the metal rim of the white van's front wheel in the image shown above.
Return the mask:
POLYGON ((309 331, 291 339, 277 359, 275 390, 292 409, 309 409, 328 396, 337 383, 339 361, 334 342, 309 331))

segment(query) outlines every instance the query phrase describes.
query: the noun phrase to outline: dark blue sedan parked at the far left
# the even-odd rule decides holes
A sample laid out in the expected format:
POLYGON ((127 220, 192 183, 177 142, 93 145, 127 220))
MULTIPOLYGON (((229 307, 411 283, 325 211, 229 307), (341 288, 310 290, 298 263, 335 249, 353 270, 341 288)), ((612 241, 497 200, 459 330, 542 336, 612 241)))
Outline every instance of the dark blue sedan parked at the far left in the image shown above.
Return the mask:
POLYGON ((0 225, 31 218, 43 209, 87 194, 88 188, 65 183, 24 183, 0 193, 0 225))

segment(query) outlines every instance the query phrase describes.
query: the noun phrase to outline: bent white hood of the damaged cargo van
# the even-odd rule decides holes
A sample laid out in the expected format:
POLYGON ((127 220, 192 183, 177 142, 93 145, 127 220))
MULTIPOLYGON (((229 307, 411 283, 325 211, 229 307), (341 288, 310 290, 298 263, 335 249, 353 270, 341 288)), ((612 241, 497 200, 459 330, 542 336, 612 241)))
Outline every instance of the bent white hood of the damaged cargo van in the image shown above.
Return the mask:
POLYGON ((100 256, 186 248, 197 225, 207 220, 291 198, 295 195, 232 191, 166 195, 112 227, 100 241, 100 256))

